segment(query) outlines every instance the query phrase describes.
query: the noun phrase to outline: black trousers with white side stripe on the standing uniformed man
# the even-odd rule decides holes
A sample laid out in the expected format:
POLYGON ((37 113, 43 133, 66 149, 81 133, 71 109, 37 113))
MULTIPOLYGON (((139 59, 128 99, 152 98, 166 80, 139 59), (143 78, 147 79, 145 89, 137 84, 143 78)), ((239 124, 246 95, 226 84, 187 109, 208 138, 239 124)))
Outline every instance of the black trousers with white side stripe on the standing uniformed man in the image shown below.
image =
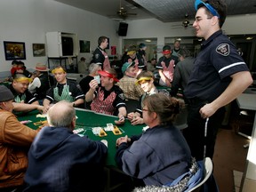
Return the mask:
POLYGON ((206 103, 205 100, 188 100, 188 128, 183 130, 183 134, 196 161, 206 156, 212 159, 218 129, 225 114, 225 108, 219 108, 208 119, 202 118, 199 110, 206 103))

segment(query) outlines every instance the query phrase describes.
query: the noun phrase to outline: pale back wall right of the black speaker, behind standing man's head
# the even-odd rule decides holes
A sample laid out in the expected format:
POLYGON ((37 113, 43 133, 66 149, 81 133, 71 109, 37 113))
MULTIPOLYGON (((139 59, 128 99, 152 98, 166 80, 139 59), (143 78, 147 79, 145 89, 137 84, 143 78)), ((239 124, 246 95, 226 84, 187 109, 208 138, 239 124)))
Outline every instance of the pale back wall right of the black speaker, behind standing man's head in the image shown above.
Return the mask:
MULTIPOLYGON (((223 30, 227 35, 241 35, 241 34, 256 34, 255 28, 256 14, 230 16, 227 17, 223 25, 223 30)), ((190 20, 193 23, 193 20, 190 20)), ((176 36, 195 36, 194 28, 177 28, 173 25, 180 24, 180 22, 163 23, 159 20, 132 20, 128 21, 129 27, 127 36, 124 39, 132 38, 152 38, 157 37, 157 44, 164 43, 164 37, 176 36)))

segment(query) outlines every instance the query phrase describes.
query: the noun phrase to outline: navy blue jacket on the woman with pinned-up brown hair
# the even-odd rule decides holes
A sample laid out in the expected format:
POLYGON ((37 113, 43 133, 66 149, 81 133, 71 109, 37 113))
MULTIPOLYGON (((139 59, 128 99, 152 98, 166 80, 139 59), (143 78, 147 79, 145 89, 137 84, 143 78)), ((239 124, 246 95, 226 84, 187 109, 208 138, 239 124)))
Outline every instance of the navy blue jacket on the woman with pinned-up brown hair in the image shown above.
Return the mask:
POLYGON ((163 186, 188 172, 191 155, 180 130, 173 125, 158 125, 149 128, 130 147, 122 143, 116 151, 116 163, 146 185, 163 186))

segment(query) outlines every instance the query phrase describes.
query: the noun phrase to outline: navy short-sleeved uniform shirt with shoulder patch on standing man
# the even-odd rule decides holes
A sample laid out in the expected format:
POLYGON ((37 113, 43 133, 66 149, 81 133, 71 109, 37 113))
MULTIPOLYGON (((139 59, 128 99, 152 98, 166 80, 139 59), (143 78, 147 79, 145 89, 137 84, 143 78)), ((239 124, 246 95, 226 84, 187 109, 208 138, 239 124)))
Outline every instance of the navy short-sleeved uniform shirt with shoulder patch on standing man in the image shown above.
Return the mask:
POLYGON ((184 94, 187 99, 212 102, 228 87, 230 76, 248 70, 236 46, 219 30, 202 44, 184 94))

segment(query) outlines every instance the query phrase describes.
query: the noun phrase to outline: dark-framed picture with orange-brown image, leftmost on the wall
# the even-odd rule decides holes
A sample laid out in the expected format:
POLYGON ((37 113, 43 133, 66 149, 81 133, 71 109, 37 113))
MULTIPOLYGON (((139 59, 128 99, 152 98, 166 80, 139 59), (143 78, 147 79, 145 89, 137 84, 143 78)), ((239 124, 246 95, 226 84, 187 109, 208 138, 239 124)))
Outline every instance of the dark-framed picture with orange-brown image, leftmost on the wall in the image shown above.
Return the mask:
POLYGON ((4 41, 5 60, 26 60, 25 43, 4 41))

